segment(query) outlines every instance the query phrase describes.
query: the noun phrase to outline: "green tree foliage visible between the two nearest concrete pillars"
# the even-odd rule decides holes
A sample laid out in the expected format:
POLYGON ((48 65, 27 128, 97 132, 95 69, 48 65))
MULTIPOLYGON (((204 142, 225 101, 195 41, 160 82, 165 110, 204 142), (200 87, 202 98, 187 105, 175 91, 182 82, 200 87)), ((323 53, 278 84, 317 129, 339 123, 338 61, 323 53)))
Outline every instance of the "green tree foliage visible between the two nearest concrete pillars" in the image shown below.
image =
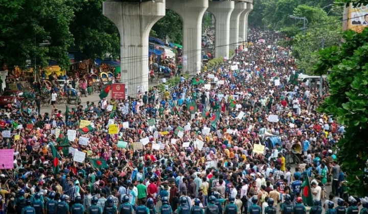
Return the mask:
POLYGON ((170 42, 182 44, 182 21, 174 11, 166 9, 166 15, 153 25, 152 30, 158 38, 168 37, 170 42))

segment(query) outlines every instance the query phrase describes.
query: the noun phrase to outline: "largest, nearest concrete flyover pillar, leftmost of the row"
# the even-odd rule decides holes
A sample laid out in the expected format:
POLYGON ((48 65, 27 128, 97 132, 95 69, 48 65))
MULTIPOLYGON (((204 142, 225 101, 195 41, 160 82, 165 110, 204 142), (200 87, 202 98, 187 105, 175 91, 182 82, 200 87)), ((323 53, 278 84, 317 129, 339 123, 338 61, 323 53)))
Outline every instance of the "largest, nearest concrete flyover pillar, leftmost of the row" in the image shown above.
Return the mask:
POLYGON ((148 91, 148 37, 156 21, 165 16, 165 0, 103 2, 103 14, 118 27, 121 44, 121 78, 126 96, 148 91))

